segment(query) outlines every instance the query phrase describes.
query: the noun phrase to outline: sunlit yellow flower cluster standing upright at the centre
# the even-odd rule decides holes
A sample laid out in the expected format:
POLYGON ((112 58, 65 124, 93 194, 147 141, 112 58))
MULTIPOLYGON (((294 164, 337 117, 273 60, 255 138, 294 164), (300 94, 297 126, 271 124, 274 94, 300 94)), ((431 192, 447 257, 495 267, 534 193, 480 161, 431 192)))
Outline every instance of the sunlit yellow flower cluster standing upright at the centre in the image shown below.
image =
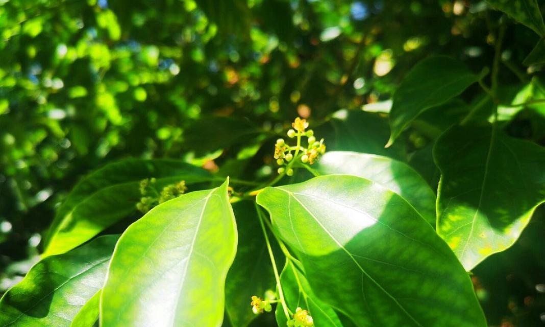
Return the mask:
POLYGON ((293 129, 288 130, 287 134, 289 138, 297 138, 297 145, 289 146, 284 139, 278 139, 274 151, 276 163, 280 166, 286 166, 278 168, 278 174, 286 173, 288 176, 293 175, 293 163, 291 162, 294 157, 297 157, 296 159, 300 159, 303 163, 313 164, 320 154, 325 153, 324 139, 317 141, 312 129, 305 131, 308 128, 306 120, 297 117, 292 123, 292 127, 293 129), (307 137, 308 146, 306 148, 301 146, 301 136, 307 137))

